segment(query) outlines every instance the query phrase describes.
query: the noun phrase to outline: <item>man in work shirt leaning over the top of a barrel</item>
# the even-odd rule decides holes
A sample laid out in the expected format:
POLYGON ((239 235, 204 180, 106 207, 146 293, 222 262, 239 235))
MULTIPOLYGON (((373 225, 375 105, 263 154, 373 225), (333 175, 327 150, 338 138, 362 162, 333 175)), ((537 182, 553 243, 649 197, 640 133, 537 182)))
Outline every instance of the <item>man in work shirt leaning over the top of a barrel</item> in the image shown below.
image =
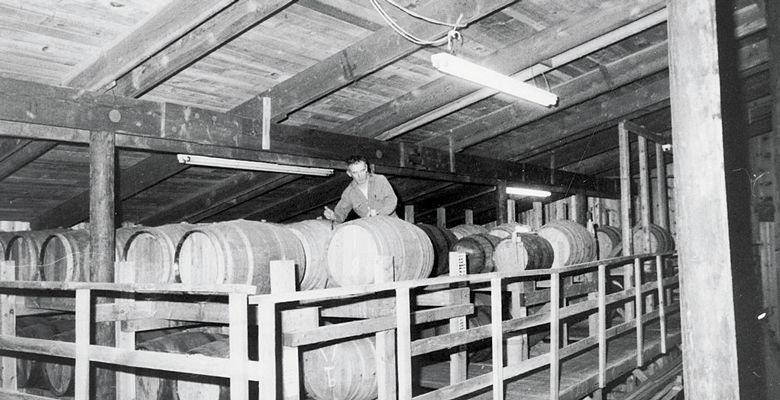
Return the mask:
POLYGON ((350 210, 355 210, 360 217, 395 217, 398 198, 387 178, 368 172, 368 163, 363 156, 351 156, 347 164, 347 175, 352 178, 352 182, 344 189, 334 210, 325 207, 325 218, 344 222, 350 210))

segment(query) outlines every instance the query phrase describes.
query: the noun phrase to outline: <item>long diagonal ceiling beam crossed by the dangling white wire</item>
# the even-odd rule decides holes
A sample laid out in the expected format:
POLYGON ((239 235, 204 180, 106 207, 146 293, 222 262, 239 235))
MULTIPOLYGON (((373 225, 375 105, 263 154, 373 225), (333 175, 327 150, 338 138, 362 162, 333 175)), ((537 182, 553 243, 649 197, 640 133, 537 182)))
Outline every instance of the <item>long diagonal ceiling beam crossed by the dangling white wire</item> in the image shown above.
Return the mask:
MULTIPOLYGON (((459 16, 463 22, 474 22, 511 3, 514 0, 471 0, 452 1, 445 5, 428 1, 416 12, 442 21, 456 22, 459 16)), ((390 12, 392 8, 388 9, 390 12)), ((395 10, 392 10, 395 11, 395 10)), ((394 13, 393 18, 411 34, 423 39, 438 39, 451 28, 431 24, 404 13, 394 13)), ((260 98, 270 97, 273 120, 287 118, 287 114, 298 110, 350 83, 418 50, 420 46, 406 40, 390 27, 371 34, 344 50, 318 62, 271 89, 245 101, 231 112, 255 117, 260 98)))

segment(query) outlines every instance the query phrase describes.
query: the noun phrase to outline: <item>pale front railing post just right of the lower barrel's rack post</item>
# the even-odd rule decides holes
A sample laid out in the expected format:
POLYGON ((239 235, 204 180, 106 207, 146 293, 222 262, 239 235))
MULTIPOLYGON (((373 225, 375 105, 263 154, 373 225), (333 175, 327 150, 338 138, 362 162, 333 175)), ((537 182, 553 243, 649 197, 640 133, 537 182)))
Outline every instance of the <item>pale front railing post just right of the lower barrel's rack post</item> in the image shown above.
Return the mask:
MULTIPOLYGON (((412 320, 408 287, 395 290, 395 318, 398 330, 398 399, 412 399, 412 320)), ((381 399, 381 397, 380 397, 381 399)))

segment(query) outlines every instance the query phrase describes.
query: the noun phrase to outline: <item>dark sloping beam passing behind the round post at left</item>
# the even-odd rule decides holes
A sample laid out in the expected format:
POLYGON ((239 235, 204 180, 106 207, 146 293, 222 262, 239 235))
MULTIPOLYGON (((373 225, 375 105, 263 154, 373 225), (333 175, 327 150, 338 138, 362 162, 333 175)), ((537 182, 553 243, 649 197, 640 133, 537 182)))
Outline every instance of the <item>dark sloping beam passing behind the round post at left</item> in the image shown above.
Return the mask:
MULTIPOLYGON (((154 154, 119 172, 118 200, 135 196, 156 185, 189 165, 179 164, 176 156, 154 154)), ((30 222, 32 229, 67 228, 89 218, 89 189, 77 194, 57 207, 38 215, 30 222)))

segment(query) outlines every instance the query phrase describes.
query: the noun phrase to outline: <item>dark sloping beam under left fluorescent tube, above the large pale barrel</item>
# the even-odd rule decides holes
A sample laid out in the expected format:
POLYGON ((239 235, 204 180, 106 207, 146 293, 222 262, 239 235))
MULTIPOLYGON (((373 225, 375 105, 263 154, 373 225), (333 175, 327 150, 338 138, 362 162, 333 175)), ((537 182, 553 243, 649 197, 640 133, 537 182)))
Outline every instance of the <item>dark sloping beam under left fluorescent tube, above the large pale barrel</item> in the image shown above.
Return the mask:
POLYGON ((300 175, 238 172, 211 189, 171 204, 139 222, 152 226, 181 221, 201 222, 300 178, 300 175))

